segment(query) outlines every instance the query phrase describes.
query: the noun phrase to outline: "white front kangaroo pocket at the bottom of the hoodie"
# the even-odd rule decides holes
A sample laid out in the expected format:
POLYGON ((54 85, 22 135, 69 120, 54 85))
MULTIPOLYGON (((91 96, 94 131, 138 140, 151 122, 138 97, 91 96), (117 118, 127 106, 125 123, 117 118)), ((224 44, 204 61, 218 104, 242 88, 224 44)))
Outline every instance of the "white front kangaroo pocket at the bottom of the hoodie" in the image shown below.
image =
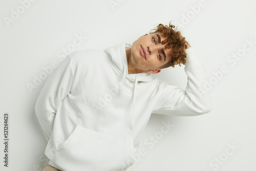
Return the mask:
POLYGON ((55 164, 62 170, 113 171, 133 165, 133 138, 95 132, 77 125, 58 149, 55 164))

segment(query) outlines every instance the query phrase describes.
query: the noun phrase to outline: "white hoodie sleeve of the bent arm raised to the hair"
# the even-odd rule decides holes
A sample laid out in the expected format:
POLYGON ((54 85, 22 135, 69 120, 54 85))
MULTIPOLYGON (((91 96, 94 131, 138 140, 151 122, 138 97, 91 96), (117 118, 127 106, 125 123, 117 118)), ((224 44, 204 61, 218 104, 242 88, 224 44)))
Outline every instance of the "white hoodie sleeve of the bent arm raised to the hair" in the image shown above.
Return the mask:
POLYGON ((161 94, 153 113, 173 116, 196 116, 211 110, 209 92, 203 89, 206 80, 204 65, 199 61, 193 48, 185 50, 187 61, 185 72, 187 86, 185 90, 160 82, 158 92, 161 94))

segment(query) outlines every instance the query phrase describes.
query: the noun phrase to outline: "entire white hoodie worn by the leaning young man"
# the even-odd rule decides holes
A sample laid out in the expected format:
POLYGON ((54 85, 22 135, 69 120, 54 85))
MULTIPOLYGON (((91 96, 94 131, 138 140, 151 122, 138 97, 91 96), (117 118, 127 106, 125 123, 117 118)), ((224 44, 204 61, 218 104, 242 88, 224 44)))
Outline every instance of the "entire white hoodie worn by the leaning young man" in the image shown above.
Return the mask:
POLYGON ((151 74, 128 74, 122 43, 68 55, 45 83, 35 111, 49 141, 49 164, 65 171, 126 170, 151 113, 195 116, 211 110, 205 69, 187 49, 186 90, 151 74))

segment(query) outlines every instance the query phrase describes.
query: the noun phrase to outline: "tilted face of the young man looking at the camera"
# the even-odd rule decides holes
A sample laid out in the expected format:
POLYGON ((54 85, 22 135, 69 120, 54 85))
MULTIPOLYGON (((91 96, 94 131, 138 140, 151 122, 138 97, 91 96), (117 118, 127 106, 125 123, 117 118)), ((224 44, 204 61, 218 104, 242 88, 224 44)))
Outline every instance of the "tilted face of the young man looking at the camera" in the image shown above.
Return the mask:
POLYGON ((140 72, 156 74, 171 58, 172 48, 161 44, 165 40, 162 33, 145 34, 133 42, 130 64, 140 72))

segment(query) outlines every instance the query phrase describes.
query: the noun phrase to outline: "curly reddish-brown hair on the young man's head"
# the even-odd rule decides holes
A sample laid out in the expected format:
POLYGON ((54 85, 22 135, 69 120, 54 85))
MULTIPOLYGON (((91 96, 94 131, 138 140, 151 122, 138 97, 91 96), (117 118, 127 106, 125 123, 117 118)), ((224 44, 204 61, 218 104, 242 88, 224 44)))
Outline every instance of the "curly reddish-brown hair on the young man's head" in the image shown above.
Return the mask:
MULTIPOLYGON (((172 22, 172 21, 171 21, 172 22)), ((171 23, 170 22, 170 23, 171 23)), ((179 65, 182 63, 185 65, 186 63, 186 53, 185 50, 187 49, 187 41, 185 40, 185 37, 183 37, 180 33, 180 31, 177 31, 176 26, 169 23, 169 26, 164 26, 162 24, 159 24, 157 28, 152 29, 150 31, 150 34, 153 33, 163 33, 164 37, 167 37, 164 41, 161 42, 162 45, 165 45, 165 48, 173 48, 172 49, 172 56, 170 61, 168 61, 164 66, 161 68, 168 68, 173 67, 175 65, 179 65), (175 28, 175 29, 174 29, 175 28)))

